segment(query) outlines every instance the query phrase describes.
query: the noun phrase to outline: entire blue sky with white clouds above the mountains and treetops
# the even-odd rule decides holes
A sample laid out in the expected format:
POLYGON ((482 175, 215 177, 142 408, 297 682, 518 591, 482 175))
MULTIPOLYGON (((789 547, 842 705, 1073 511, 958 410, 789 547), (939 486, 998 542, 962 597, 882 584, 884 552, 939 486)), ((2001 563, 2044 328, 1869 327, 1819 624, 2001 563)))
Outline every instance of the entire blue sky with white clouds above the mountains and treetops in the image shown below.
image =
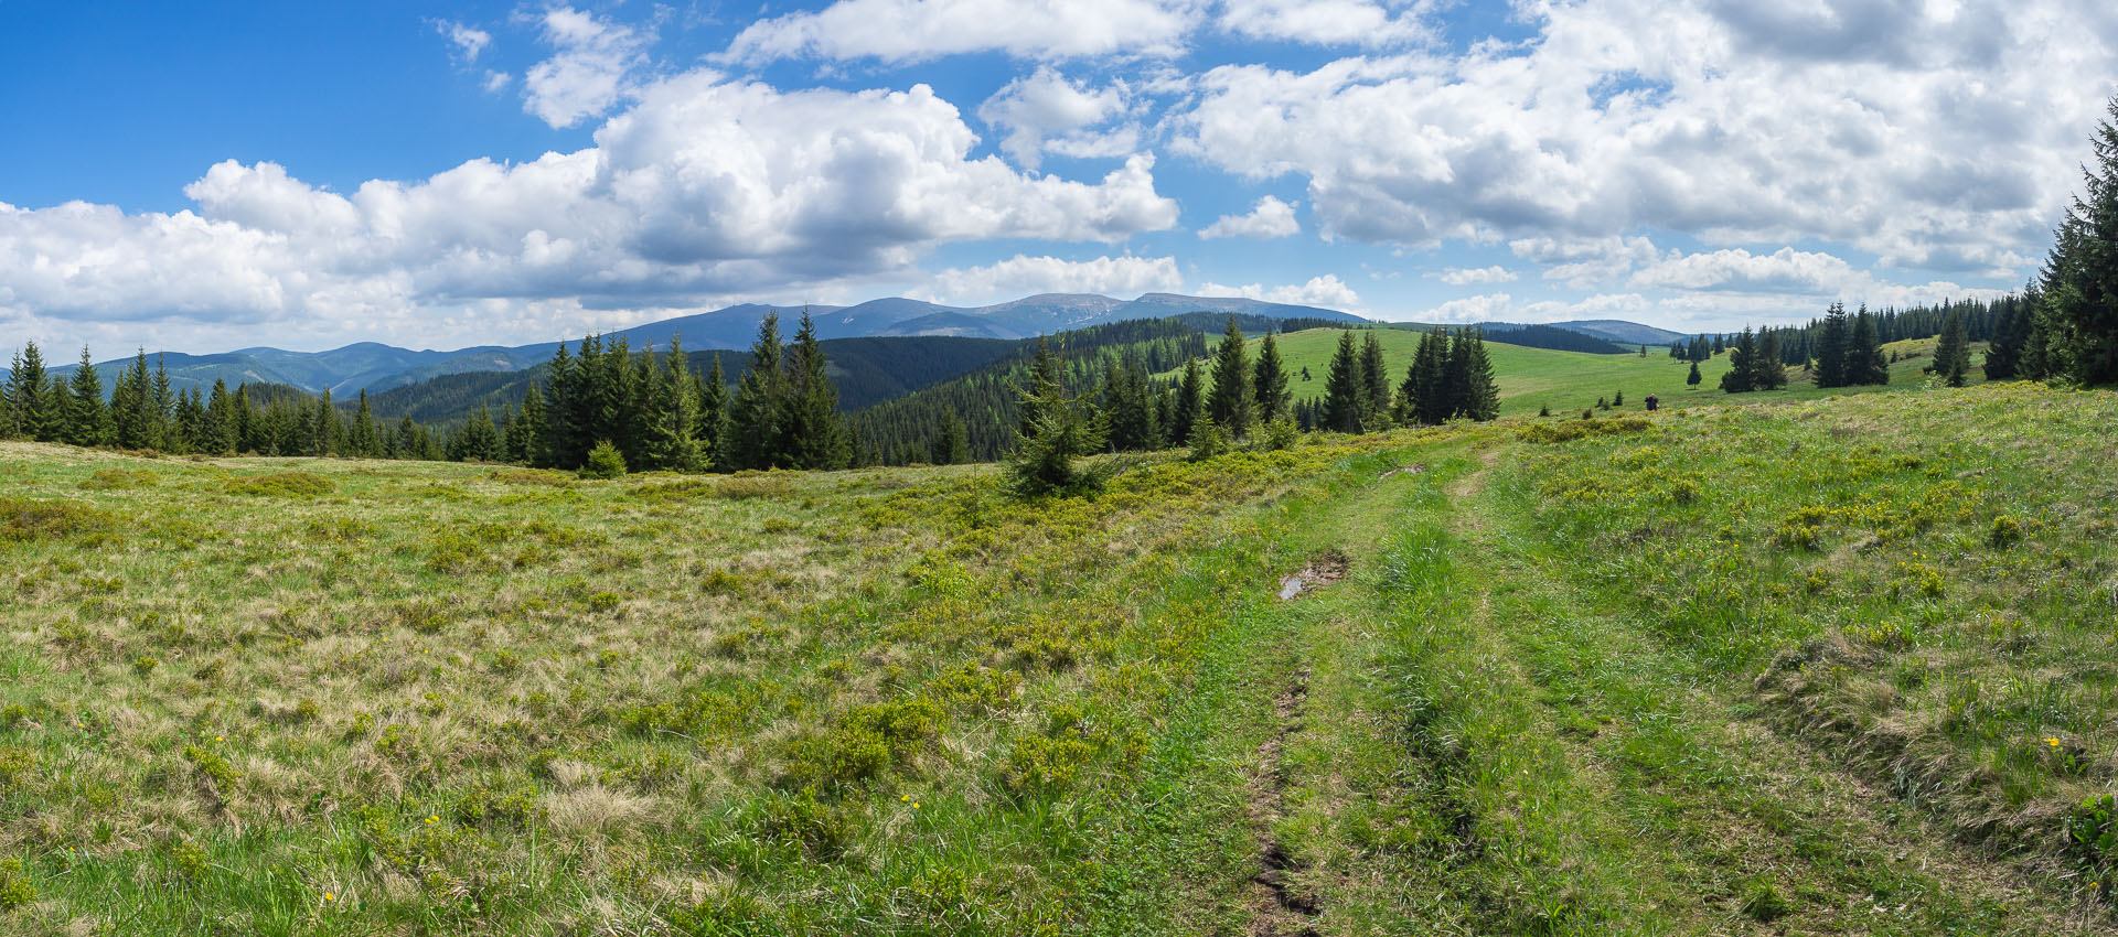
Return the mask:
POLYGON ((2086 0, 0 0, 0 347, 1150 290, 1805 319, 2031 277, 2114 66, 2086 0))

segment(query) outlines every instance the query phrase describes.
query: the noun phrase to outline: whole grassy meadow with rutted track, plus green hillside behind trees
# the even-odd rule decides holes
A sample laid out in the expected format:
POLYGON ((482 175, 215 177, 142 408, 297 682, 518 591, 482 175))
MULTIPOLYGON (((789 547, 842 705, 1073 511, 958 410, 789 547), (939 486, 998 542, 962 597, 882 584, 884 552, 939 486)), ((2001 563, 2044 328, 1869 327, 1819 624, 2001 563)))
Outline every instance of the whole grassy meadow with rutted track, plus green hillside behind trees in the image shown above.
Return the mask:
POLYGON ((0 444, 0 929, 2114 933, 2118 398, 1893 376, 1034 503, 0 444))

